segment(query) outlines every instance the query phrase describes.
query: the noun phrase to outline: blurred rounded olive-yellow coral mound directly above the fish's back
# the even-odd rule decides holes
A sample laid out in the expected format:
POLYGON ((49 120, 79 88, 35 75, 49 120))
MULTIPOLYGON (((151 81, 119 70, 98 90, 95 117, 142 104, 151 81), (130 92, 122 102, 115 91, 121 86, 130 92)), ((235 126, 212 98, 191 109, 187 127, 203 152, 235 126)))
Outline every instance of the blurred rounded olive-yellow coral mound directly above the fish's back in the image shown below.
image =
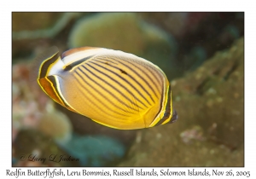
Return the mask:
POLYGON ((134 13, 85 16, 73 26, 68 44, 70 48, 92 46, 122 50, 152 61, 169 78, 178 76, 173 63, 177 51, 175 39, 134 13))

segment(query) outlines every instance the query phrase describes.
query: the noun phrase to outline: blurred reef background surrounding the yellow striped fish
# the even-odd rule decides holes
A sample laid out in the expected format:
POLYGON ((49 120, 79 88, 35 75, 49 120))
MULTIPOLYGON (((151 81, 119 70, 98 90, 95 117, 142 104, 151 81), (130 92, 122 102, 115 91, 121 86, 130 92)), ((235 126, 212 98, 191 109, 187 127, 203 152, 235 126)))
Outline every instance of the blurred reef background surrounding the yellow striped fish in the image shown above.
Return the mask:
POLYGON ((239 12, 13 13, 13 166, 243 166, 243 36, 239 12), (56 104, 31 78, 53 45, 152 61, 171 81, 177 122, 114 130, 56 104))

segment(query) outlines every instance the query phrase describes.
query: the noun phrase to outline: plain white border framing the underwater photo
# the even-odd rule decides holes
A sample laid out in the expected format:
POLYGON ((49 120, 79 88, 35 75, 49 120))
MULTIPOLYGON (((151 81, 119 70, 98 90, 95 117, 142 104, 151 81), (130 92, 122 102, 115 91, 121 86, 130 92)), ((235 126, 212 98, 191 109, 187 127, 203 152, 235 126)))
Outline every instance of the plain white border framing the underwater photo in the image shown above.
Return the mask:
MULTIPOLYGON (((1 85, 1 178, 6 176, 6 170, 11 168, 11 12, 12 11, 245 11, 245 167, 239 168, 207 168, 207 170, 249 170, 250 178, 255 178, 255 5, 253 1, 2 1, 1 2, 1 52, 2 77, 1 85)), ((37 168, 32 168, 36 170, 37 168)), ((45 168, 44 168, 45 169, 45 168)), ((43 170, 44 170, 43 169, 43 170)), ((64 168, 63 170, 83 170, 83 168, 64 168)), ((101 168, 113 170, 113 168, 101 168)), ((129 168, 117 168, 128 170, 129 168)), ((150 168, 146 168, 149 170, 150 168)), ((172 170, 189 170, 191 168, 172 168, 172 170)), ((196 168, 203 170, 204 168, 196 168)), ((26 170, 22 168, 22 170, 26 170)), ((97 168, 90 168, 97 170, 97 168)), ((156 170, 160 170, 157 168, 156 170)), ((21 177, 21 176, 20 176, 21 177)), ((19 177, 19 178, 20 178, 19 177)), ((39 176, 42 178, 42 176, 39 176)), ((38 177, 38 178, 39 178, 38 177)), ((80 176, 84 178, 85 176, 80 176)), ((119 177, 119 176, 118 176, 119 177)), ((127 176, 126 176, 127 177, 127 176)), ((151 177, 151 176, 146 176, 151 177)), ((176 178, 174 176, 169 176, 176 178)), ((203 178, 190 176, 190 178, 203 178)), ((15 178, 12 176, 11 178, 15 178)), ((26 178, 26 177, 21 177, 26 178)), ((34 177, 33 177, 34 178, 34 177)), ((55 177, 57 178, 57 177, 55 177)), ((59 177, 62 178, 62 177, 59 177)), ((72 176, 65 178, 73 178, 72 176)), ((86 178, 90 178, 86 176, 86 178)), ((91 178, 96 178, 92 177, 91 178)), ((227 176, 210 177, 227 178, 227 176)), ((240 177, 241 178, 241 177, 240 177)), ((244 177, 243 177, 244 178, 244 177)))

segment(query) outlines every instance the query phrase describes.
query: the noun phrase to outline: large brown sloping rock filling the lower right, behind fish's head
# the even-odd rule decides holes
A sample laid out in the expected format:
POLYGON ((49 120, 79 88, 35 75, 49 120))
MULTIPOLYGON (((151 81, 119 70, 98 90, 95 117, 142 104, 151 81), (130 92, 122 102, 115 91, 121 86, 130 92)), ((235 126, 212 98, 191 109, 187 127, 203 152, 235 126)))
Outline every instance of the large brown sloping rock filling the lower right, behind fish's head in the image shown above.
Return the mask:
POLYGON ((177 122, 140 130, 119 166, 244 165, 243 41, 172 81, 177 122))

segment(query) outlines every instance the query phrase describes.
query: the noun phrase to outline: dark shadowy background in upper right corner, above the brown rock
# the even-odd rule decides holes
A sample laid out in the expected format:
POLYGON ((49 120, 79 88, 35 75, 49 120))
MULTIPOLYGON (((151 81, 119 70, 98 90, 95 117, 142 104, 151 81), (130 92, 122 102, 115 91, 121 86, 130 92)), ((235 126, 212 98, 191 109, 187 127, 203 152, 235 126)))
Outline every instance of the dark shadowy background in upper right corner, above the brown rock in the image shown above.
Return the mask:
MULTIPOLYGON (((244 34, 242 12, 138 13, 177 41, 178 74, 195 70, 216 51, 230 48, 244 34)), ((176 76, 176 78, 180 76, 176 76)))

